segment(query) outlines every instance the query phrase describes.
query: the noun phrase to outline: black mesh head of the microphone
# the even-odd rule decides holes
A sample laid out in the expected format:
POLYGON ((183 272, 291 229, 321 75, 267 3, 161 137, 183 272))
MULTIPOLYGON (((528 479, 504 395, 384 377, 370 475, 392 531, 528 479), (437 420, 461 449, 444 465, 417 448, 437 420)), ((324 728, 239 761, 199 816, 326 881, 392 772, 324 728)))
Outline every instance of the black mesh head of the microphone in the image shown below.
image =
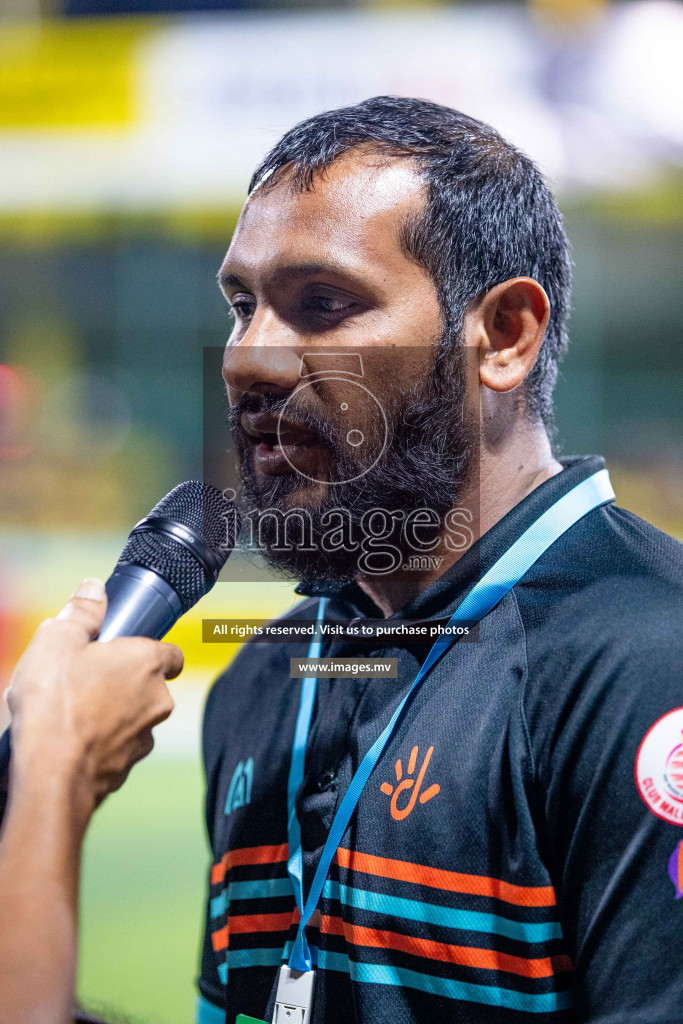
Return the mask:
POLYGON ((193 534, 199 551, 208 549, 208 558, 200 558, 198 551, 190 551, 161 529, 136 532, 138 523, 121 552, 119 565, 139 565, 162 577, 180 598, 185 612, 211 590, 234 547, 240 529, 238 511, 217 487, 187 480, 155 505, 145 516, 151 518, 184 526, 193 534))

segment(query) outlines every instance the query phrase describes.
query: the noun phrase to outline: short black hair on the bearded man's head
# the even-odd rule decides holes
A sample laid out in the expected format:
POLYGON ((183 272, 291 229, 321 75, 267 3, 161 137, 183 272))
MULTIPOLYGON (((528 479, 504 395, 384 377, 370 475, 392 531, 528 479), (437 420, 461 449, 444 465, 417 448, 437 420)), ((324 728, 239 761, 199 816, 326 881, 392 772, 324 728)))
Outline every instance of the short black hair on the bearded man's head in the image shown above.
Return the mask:
POLYGON ((551 427, 567 346, 571 259, 562 215, 539 168, 460 111, 375 96, 295 125, 257 168, 250 194, 286 165, 295 186, 310 188, 316 174, 356 146, 412 159, 424 174, 425 209, 402 225, 401 242, 434 281, 446 344, 461 337, 468 305, 501 282, 529 276, 545 289, 550 322, 525 394, 530 417, 551 427))

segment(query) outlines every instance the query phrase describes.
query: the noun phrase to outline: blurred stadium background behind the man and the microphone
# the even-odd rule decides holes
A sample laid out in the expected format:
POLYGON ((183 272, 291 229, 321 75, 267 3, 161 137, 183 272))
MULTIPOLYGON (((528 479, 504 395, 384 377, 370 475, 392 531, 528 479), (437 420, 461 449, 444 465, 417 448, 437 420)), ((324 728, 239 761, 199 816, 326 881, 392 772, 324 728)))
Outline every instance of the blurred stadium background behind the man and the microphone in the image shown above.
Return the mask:
MULTIPOLYGON (((605 455, 620 504, 683 538, 682 46, 669 0, 5 0, 0 686, 40 618, 201 476, 203 348, 229 331, 214 279, 259 157, 368 95, 459 106, 541 163, 577 264, 558 446, 605 455)), ((176 712, 87 839, 85 1004, 193 1019, 200 718, 233 651, 203 645, 201 618, 292 601, 285 584, 218 585, 175 628, 176 712)))

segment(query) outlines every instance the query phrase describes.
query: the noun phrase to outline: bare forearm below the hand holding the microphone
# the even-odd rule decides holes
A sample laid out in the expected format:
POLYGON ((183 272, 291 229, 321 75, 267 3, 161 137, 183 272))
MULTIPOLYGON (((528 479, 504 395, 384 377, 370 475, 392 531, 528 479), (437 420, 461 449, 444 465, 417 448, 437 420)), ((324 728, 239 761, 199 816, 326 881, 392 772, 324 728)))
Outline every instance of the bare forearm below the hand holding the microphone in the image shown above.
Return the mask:
POLYGON ((0 839, 0 1024, 71 1020, 81 848, 93 801, 83 765, 56 751, 41 758, 47 763, 49 772, 15 764, 0 839))

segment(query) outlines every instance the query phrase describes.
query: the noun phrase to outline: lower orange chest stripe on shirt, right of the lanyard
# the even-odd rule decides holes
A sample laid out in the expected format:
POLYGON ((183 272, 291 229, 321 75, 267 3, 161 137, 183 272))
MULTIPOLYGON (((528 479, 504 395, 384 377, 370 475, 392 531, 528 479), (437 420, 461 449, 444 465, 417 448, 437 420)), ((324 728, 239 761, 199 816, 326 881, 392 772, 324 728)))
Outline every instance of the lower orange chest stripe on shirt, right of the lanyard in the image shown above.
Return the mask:
POLYGON ((414 935, 401 935, 398 932, 352 925, 342 921, 341 918, 331 918, 325 914, 322 919, 321 931, 327 935, 342 935, 354 946, 395 949, 397 952, 412 953, 414 956, 425 956, 428 959, 459 964, 463 967, 484 968, 488 971, 504 971, 506 974, 516 974, 523 978, 551 978, 556 972, 571 968, 568 957, 540 956, 530 959, 524 956, 512 956, 510 953, 501 953, 496 949, 454 946, 447 942, 436 942, 434 939, 422 939, 414 935))

